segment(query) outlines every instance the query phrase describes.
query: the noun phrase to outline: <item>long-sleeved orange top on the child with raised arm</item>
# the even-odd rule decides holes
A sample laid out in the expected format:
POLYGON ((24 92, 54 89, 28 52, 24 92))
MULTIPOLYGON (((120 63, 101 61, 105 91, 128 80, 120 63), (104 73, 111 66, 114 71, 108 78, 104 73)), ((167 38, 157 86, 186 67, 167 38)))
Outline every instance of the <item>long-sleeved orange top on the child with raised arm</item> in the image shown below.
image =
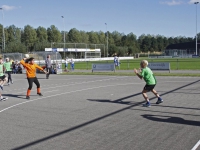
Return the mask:
POLYGON ((26 75, 28 78, 36 77, 36 69, 44 70, 42 67, 38 66, 37 64, 29 64, 25 63, 24 60, 21 60, 20 63, 26 68, 26 75))

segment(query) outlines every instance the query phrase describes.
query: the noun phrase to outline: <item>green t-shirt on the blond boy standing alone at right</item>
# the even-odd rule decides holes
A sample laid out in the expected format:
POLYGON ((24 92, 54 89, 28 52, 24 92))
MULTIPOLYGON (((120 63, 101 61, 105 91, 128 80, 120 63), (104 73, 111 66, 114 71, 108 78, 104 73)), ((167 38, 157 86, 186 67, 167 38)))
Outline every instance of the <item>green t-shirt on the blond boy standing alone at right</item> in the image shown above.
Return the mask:
POLYGON ((146 67, 142 69, 141 76, 143 77, 144 81, 147 85, 154 85, 156 84, 156 78, 153 75, 153 72, 150 68, 146 67))

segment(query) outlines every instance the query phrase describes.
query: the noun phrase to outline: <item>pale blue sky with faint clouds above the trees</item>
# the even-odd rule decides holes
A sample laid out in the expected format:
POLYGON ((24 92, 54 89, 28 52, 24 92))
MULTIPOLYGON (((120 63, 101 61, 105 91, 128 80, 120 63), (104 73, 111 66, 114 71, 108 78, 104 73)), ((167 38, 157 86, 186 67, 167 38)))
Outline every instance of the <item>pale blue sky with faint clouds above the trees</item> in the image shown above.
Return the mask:
POLYGON ((200 3, 194 2, 200 0, 1 0, 0 24, 195 37, 200 3))

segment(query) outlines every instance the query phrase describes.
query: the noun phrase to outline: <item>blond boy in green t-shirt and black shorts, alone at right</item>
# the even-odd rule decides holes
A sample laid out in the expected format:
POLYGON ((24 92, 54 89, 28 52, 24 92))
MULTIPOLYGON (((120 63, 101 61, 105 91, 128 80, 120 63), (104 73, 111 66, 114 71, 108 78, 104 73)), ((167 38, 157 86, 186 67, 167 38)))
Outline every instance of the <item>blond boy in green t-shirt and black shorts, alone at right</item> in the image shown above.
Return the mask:
POLYGON ((146 85, 142 91, 142 95, 143 95, 144 99, 146 100, 146 103, 143 106, 151 107, 151 103, 146 94, 147 92, 149 92, 149 91, 153 92, 154 95, 158 98, 158 101, 156 102, 156 104, 162 103, 163 99, 159 96, 159 94, 156 92, 156 90, 154 90, 154 87, 156 86, 156 79, 155 79, 151 69, 148 68, 147 66, 148 66, 148 61, 142 60, 140 63, 140 67, 141 67, 140 73, 138 73, 137 69, 134 69, 134 72, 140 79, 144 79, 144 81, 146 82, 146 85))

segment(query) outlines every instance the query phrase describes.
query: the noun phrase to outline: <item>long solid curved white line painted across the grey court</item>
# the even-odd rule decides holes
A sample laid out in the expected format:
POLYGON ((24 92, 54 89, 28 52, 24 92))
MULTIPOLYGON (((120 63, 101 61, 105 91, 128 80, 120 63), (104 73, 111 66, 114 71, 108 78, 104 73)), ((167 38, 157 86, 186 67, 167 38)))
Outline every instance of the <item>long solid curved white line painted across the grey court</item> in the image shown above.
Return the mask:
POLYGON ((45 97, 43 96, 43 97, 41 97, 41 98, 36 98, 36 99, 33 99, 33 100, 28 100, 28 101, 25 101, 25 102, 22 102, 22 103, 18 103, 18 104, 9 106, 9 107, 7 107, 7 108, 2 109, 2 110, 0 111, 0 113, 6 111, 6 110, 8 110, 8 109, 11 109, 11 108, 13 108, 13 107, 22 105, 22 104, 34 102, 34 101, 37 101, 37 100, 40 100, 40 99, 49 98, 49 97, 55 97, 55 96, 59 96, 59 95, 70 94, 70 93, 75 93, 75 92, 82 92, 82 91, 93 90, 93 89, 104 88, 104 87, 126 86, 126 85, 131 85, 131 84, 142 84, 142 83, 128 83, 128 84, 115 84, 115 85, 98 86, 98 87, 91 87, 91 88, 86 88, 86 89, 81 89, 81 90, 76 90, 76 91, 70 91, 70 92, 64 92, 64 93, 54 94, 54 95, 51 95, 51 96, 45 96, 45 97))

